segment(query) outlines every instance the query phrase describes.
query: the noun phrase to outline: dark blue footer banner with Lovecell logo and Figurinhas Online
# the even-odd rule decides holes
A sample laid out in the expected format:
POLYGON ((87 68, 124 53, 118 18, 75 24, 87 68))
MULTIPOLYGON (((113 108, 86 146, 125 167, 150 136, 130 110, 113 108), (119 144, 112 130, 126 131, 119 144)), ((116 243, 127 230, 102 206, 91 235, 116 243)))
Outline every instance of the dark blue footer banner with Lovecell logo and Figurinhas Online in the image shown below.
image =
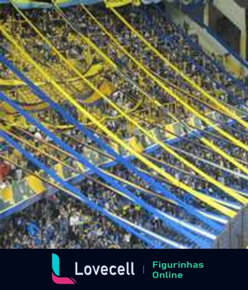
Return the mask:
POLYGON ((0 289, 239 288, 247 261, 248 250, 0 250, 0 289))

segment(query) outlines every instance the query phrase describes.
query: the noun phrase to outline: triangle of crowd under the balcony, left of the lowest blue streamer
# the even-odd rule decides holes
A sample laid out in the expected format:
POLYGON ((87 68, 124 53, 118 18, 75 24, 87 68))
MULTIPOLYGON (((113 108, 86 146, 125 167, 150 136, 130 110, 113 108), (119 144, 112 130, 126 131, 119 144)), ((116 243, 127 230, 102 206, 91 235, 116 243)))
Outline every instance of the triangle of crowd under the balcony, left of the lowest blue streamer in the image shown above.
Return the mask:
POLYGON ((138 239, 81 202, 56 194, 7 220, 0 248, 144 248, 138 239))

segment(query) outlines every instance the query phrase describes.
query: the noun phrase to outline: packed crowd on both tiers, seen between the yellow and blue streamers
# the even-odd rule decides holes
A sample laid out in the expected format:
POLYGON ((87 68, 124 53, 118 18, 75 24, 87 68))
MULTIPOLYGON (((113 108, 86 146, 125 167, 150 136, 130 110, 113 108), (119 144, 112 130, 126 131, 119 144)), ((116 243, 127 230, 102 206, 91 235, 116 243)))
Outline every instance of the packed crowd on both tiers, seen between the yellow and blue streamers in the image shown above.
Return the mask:
MULTIPOLYGON (((187 40, 187 28, 186 31, 182 31, 182 28, 178 28, 170 19, 157 17, 157 13, 155 13, 154 8, 151 7, 148 10, 144 7, 130 10, 123 8, 121 9, 121 12, 124 13, 124 16, 130 21, 130 23, 136 27, 140 33, 144 34, 144 36, 153 43, 159 51, 162 51, 173 64, 176 64, 178 68, 182 69, 192 80, 201 85, 206 91, 215 95, 225 104, 227 103, 231 106, 238 105, 239 109, 243 108, 242 104, 246 106, 248 101, 245 94, 246 88, 243 86, 241 87, 240 82, 233 81, 232 78, 228 77, 224 68, 222 69, 221 67, 220 69, 219 66, 216 66, 216 59, 211 58, 214 56, 211 56, 210 58, 206 57, 203 51, 199 54, 193 46, 189 45, 187 40), (148 17, 148 14, 151 17, 149 18, 150 22, 147 22, 147 18, 144 17, 145 15, 148 17), (164 23, 166 23, 166 25, 164 25, 164 23)), ((120 66, 128 78, 140 85, 141 88, 145 88, 145 91, 148 92, 154 100, 157 100, 164 105, 174 102, 171 95, 164 92, 164 90, 151 81, 145 73, 140 69, 137 69, 123 52, 120 51, 120 49, 109 43, 108 36, 100 31, 99 27, 93 23, 88 15, 83 13, 82 9, 74 7, 66 10, 65 13, 72 23, 77 23, 77 28, 80 29, 82 33, 91 37, 99 48, 106 51, 110 58, 120 66)), ((209 106, 212 105, 211 102, 205 101, 207 104, 202 104, 203 98, 201 94, 188 85, 186 81, 176 74, 169 66, 165 66, 165 64, 156 57, 155 54, 147 50, 138 37, 132 35, 119 20, 113 17, 113 15, 110 15, 109 11, 93 8, 93 13, 101 20, 105 27, 116 36, 121 44, 128 48, 137 60, 140 60, 145 66, 149 67, 149 69, 156 75, 165 79, 168 82, 168 85, 171 86, 172 90, 180 97, 188 101, 184 93, 178 88, 184 89, 196 97, 197 100, 191 101, 190 104, 200 110, 202 114, 209 112, 209 106)), ((27 15, 31 19, 41 19, 36 21, 35 24, 45 33, 48 39, 52 40, 56 49, 62 52, 67 59, 73 58, 79 63, 83 63, 80 69, 86 67, 84 52, 87 50, 87 46, 83 46, 79 40, 75 40, 70 27, 64 25, 64 22, 56 11, 51 10, 45 12, 42 10, 31 10, 27 15), (45 16, 46 18, 44 21, 43 17, 45 16)), ((19 18, 18 14, 16 14, 16 18, 19 18)), ((37 62, 46 66, 59 63, 58 57, 45 43, 41 41, 39 37, 35 36, 30 27, 28 28, 27 26, 26 29, 22 28, 20 30, 18 27, 12 27, 11 29, 13 32, 21 36, 21 42, 26 51, 28 51, 37 62)), ((6 43, 3 38, 0 39, 0 42, 1 48, 6 48, 6 43)), ((9 56, 8 51, 5 55, 9 56)), ((97 57, 95 61, 100 61, 100 58, 98 59, 97 57)), ((1 68, 0 78, 9 78, 11 73, 8 69, 3 68, 3 66, 1 68)), ((54 67, 53 75, 56 77, 58 75, 62 77, 62 74, 60 74, 60 66, 54 67)), ((69 73, 69 76, 75 77, 72 72, 69 73)), ((147 106, 151 105, 151 103, 148 101, 140 102, 140 92, 135 86, 131 86, 130 82, 126 80, 121 80, 119 75, 112 70, 106 73, 104 79, 114 84, 114 92, 110 96, 113 102, 117 103, 118 106, 123 108, 126 112, 134 111, 136 114, 136 110, 138 109, 138 114, 135 115, 137 119, 139 119, 139 116, 143 116, 143 118, 147 117, 148 114, 142 115, 140 112, 146 111, 147 106)), ((99 80, 93 80, 93 82, 96 86, 99 86, 99 80)), ((73 92, 76 91, 76 89, 73 88, 73 84, 71 84, 69 88, 71 88, 73 92)), ((61 104, 64 106, 65 110, 70 111, 76 119, 79 119, 79 115, 74 108, 64 102, 61 102, 61 104)), ((101 100, 97 103, 97 106, 100 108, 101 112, 104 112, 104 116, 107 116, 105 124, 112 132, 118 134, 124 139, 134 135, 141 138, 139 130, 134 130, 132 132, 127 120, 123 117, 117 118, 118 112, 114 110, 108 102, 101 100)), ((86 107, 89 110, 94 110, 94 106, 90 108, 90 105, 86 105, 86 107)), ((155 110, 155 112, 158 111, 158 109, 155 110)), ((173 109, 171 112, 175 117, 180 118, 181 120, 192 116, 192 114, 186 111, 186 109, 181 105, 177 105, 176 110, 173 109)), ((65 120, 63 120, 59 114, 54 113, 52 116, 54 122, 66 124, 65 120)), ((46 111, 43 113, 37 113, 36 117, 42 121, 49 121, 51 115, 49 111, 46 111)), ((157 113, 153 118, 155 119, 155 122, 161 120, 160 125, 162 125, 162 127, 172 121, 166 110, 162 111, 162 117, 161 114, 157 113)), ((227 120, 228 118, 226 117, 219 118, 219 125, 243 143, 247 144, 248 135, 243 128, 237 124, 227 126, 225 125, 227 120)), ((142 124, 142 126, 147 130, 152 129, 155 126, 153 123, 143 121, 142 118, 140 118, 140 124, 142 124)), ((95 130, 94 127, 93 130, 95 130)), ((59 160, 69 162, 68 156, 62 154, 56 149, 51 149, 50 147, 48 149, 48 147, 43 144, 42 141, 50 142, 51 144, 53 144, 53 142, 48 138, 48 136, 44 136, 37 128, 30 126, 25 133, 24 131, 20 131, 13 127, 11 132, 24 137, 27 140, 33 141, 36 148, 44 150, 44 152, 58 158, 59 160)), ((80 154, 88 157, 89 150, 87 149, 87 145, 93 145, 92 141, 85 138, 78 132, 78 130, 70 130, 67 133, 55 131, 55 133, 58 134, 58 136, 61 136, 64 141, 70 144, 72 148, 77 150, 80 154), (77 142, 71 137, 79 137, 81 142, 77 142)), ((98 133, 98 131, 96 131, 96 133, 98 133)), ((246 151, 223 139, 215 131, 213 131, 212 135, 208 137, 225 152, 247 164, 248 155, 246 151)), ((105 136, 105 140, 106 142, 109 142, 108 136, 105 136)), ((247 180, 239 178, 237 177, 237 174, 235 174, 235 172, 240 173, 240 171, 235 168, 230 161, 220 157, 209 148, 203 148, 203 143, 200 141, 200 138, 197 139, 196 142, 194 142, 194 139, 181 138, 177 143, 173 144, 173 146, 175 150, 183 150, 180 152, 182 156, 201 168, 203 171, 207 172, 210 176, 213 176, 219 182, 247 193, 247 180), (204 160, 208 160, 213 164, 210 165, 209 163, 204 162, 204 160), (233 173, 226 171, 226 169, 232 170, 233 173)), ((28 149, 29 152, 35 154, 39 160, 47 166, 55 166, 56 162, 47 158, 47 156, 37 153, 36 150, 31 149, 26 145, 23 145, 23 148, 28 149)), ((95 146, 95 148, 97 150, 100 149, 97 146, 95 146)), ((10 186, 13 181, 18 182, 25 178, 29 173, 23 171, 22 168, 33 172, 39 171, 36 166, 18 154, 16 150, 9 148, 7 155, 12 156, 11 159, 16 163, 16 166, 8 164, 0 158, 0 189, 10 186)), ((198 174, 187 168, 171 154, 158 149, 151 154, 151 157, 158 158, 165 162, 167 165, 162 165, 159 163, 159 160, 155 161, 155 163, 159 164, 166 171, 170 172, 171 175, 189 185, 191 188, 215 198, 233 202, 232 198, 202 179, 198 174)), ((133 161, 133 163, 159 180, 159 176, 156 176, 153 171, 145 168, 140 162, 133 161)), ((194 226, 203 228, 206 231, 212 231, 210 227, 203 224, 200 220, 190 215, 186 210, 178 205, 173 205, 168 201, 161 200, 151 194, 149 195, 147 192, 153 190, 151 185, 144 182, 136 175, 131 174, 131 172, 127 171, 123 166, 116 165, 109 169, 109 171, 124 180, 138 184, 141 188, 144 188, 143 191, 134 188, 132 188, 132 190, 134 190, 136 195, 160 211, 166 212, 171 217, 175 217, 184 222, 190 222, 194 226)), ((194 205, 197 209, 203 211, 217 213, 209 206, 203 205, 197 199, 190 197, 189 194, 186 194, 183 190, 172 186, 168 181, 160 179, 160 182, 165 188, 169 189, 189 205, 194 205)), ((194 241, 186 238, 175 230, 171 230, 160 219, 154 215, 148 214, 148 212, 140 208, 140 206, 133 205, 128 199, 118 196, 115 192, 100 186, 90 179, 83 179, 78 184, 78 188, 80 188, 81 192, 96 204, 101 205, 107 210, 127 219, 129 222, 143 226, 147 230, 153 231, 162 237, 171 239, 186 247, 198 247, 194 241)), ((131 189, 130 186, 128 188, 131 189)), ((42 199, 38 203, 35 203, 34 205, 31 205, 23 211, 13 215, 10 217, 10 220, 8 220, 8 223, 6 223, 4 229, 1 230, 3 234, 1 234, 0 238, 0 248, 147 247, 147 245, 117 227, 113 222, 109 222, 109 220, 103 216, 93 212, 85 205, 82 205, 81 202, 65 196, 62 192, 46 199, 42 199)))

